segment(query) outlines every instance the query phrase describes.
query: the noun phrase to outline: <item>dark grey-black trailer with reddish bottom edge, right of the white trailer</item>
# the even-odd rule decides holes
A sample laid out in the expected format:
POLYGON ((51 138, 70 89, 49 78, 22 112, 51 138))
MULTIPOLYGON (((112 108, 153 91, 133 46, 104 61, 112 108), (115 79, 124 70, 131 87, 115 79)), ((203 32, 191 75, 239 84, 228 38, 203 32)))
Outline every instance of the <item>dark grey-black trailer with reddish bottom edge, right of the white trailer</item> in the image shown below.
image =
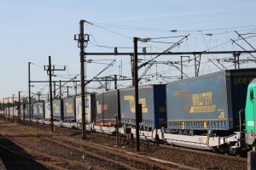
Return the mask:
POLYGON ((96 94, 96 125, 112 126, 120 117, 119 90, 96 94))

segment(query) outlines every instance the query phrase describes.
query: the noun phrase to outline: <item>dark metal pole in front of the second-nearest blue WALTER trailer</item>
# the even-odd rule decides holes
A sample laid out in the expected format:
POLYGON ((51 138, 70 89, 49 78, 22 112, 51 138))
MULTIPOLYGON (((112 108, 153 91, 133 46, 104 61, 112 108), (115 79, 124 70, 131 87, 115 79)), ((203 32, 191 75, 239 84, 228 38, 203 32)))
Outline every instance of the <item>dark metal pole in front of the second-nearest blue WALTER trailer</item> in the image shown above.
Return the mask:
POLYGON ((140 151, 139 141, 139 106, 138 106, 138 76, 137 76, 137 37, 133 37, 134 42, 134 57, 133 57, 133 71, 134 71, 134 88, 135 88, 135 111, 136 111, 136 150, 140 151))

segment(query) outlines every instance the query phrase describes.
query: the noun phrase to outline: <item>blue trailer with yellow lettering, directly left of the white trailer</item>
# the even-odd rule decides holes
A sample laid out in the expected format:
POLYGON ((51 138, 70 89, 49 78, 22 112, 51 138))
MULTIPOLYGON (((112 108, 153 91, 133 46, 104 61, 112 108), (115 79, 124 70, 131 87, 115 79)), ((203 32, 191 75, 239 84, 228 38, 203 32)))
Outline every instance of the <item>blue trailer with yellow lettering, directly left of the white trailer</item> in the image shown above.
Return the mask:
POLYGON ((63 99, 63 111, 64 122, 76 120, 76 99, 74 97, 63 99))

